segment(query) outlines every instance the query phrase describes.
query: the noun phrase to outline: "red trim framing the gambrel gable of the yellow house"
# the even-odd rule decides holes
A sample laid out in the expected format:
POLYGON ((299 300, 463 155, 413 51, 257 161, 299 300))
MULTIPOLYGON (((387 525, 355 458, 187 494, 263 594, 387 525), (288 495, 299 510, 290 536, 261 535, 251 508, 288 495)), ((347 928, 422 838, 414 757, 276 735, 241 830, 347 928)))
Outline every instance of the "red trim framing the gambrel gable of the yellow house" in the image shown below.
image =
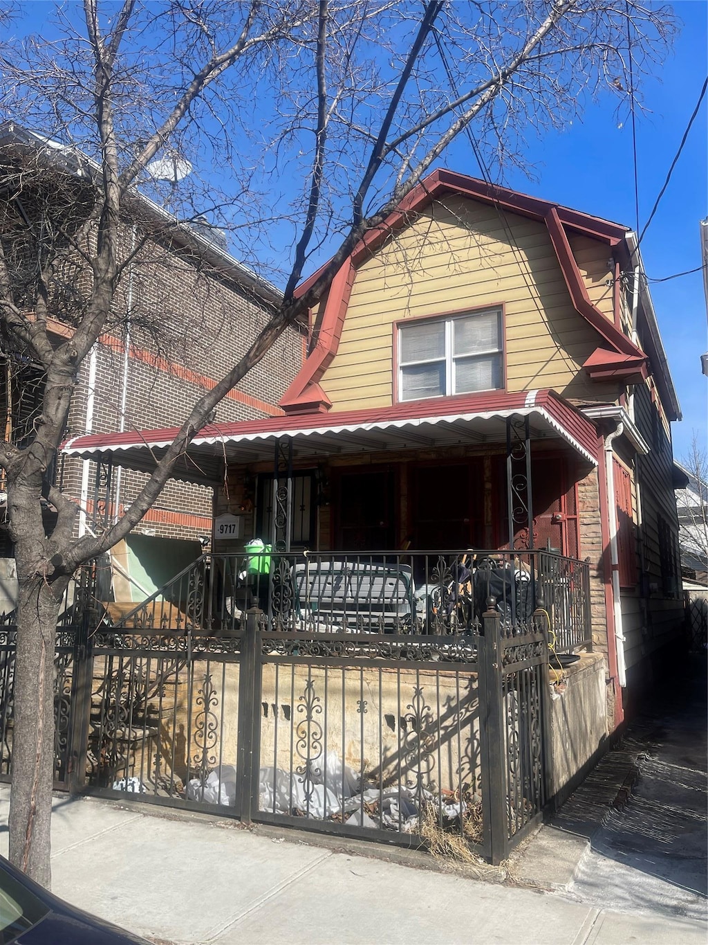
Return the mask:
MULTIPOLYGON (((615 326, 614 322, 605 318, 590 301, 565 232, 565 227, 569 227, 571 230, 582 232, 615 247, 624 240, 628 232, 626 227, 609 220, 602 220, 597 216, 557 206, 548 200, 518 194, 505 187, 498 187, 496 184, 490 185, 483 180, 476 180, 455 171, 440 169, 433 171, 425 180, 413 187, 413 190, 400 201, 396 210, 382 223, 364 233, 360 242, 352 250, 348 262, 333 277, 329 286, 329 298, 317 346, 280 400, 280 406, 287 413, 329 409, 331 402, 319 387, 318 382, 322 379, 339 347, 346 308, 356 278, 356 268, 368 256, 376 252, 393 232, 407 226, 412 216, 430 203, 430 200, 448 193, 492 203, 514 214, 529 216, 546 223, 551 244, 564 274, 565 284, 578 314, 604 338, 613 351, 641 359, 645 365, 643 370, 646 370, 647 358, 644 352, 637 348, 630 338, 615 326)), ((298 295, 317 282, 324 267, 320 266, 309 279, 298 286, 298 295)))

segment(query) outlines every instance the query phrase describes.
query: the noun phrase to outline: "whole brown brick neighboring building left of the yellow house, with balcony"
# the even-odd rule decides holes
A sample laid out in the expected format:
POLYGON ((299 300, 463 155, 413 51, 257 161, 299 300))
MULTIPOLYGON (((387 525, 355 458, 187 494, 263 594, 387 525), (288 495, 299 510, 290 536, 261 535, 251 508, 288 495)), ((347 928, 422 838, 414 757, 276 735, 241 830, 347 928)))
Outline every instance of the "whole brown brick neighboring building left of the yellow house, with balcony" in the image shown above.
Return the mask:
MULTIPOLYGON (((38 168, 46 166, 49 187, 81 186, 91 162, 76 151, 61 148, 42 136, 8 123, 0 128, 2 173, 7 181, 16 164, 31 163, 37 187, 38 168), (67 173, 68 172, 68 173, 67 173)), ((46 198, 33 210, 31 193, 6 190, 10 211, 4 215, 3 236, 10 262, 27 252, 26 227, 46 215, 46 198), (14 213, 14 216, 12 215, 14 213), (9 225, 8 225, 9 224, 9 225), (19 239, 18 233, 20 234, 19 239), (20 247, 20 249, 18 249, 20 247)), ((66 195, 63 195, 64 197, 66 195)), ((60 203, 59 195, 57 203, 60 203)), ((70 201, 64 204, 71 206, 70 201)), ((50 212, 51 213, 51 212, 50 212)), ((130 202, 122 252, 134 259, 124 270, 106 332, 84 361, 78 375, 67 426, 67 438, 87 433, 141 429, 180 424, 194 402, 213 387, 243 355, 278 304, 278 290, 242 266, 226 249, 223 234, 203 222, 177 225, 151 200, 130 202)), ((62 272, 51 301, 48 328, 57 341, 71 335, 76 309, 90 289, 86 266, 69 264, 62 272), (74 306, 74 310, 72 309, 74 306)), ((29 298, 29 296, 28 296, 29 298)), ((278 400, 292 382, 303 357, 302 336, 296 329, 282 335, 238 389, 219 404, 215 421, 232 422, 282 413, 278 400)), ((2 340, 0 406, 6 438, 22 443, 31 435, 40 405, 42 369, 25 352, 2 340)), ((60 456, 56 479, 62 490, 80 504, 80 531, 93 518, 114 516, 129 505, 145 477, 140 472, 116 471, 111 477, 108 507, 96 505, 93 462, 60 456)), ((102 498, 105 499, 105 492, 102 498)), ((211 534, 211 488, 194 482, 168 483, 155 507, 138 526, 146 535, 196 539, 211 534)), ((11 555, 7 532, 3 555, 11 555)))

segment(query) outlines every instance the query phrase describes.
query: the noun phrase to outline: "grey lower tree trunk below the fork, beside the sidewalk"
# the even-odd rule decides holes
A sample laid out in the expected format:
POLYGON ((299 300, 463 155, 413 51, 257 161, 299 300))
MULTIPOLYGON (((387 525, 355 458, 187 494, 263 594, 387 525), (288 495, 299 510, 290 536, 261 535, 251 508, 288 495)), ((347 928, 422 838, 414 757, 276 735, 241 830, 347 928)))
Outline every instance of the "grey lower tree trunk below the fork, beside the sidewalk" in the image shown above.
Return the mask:
POLYGON ((34 577, 20 581, 14 674, 9 859, 51 887, 54 654, 59 601, 34 577))

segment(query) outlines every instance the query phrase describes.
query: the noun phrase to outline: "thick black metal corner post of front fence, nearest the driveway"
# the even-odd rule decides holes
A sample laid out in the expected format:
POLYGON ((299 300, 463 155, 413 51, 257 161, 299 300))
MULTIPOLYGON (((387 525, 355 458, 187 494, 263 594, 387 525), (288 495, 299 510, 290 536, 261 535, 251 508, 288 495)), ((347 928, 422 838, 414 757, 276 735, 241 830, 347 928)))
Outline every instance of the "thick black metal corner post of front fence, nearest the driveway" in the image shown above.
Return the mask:
POLYGON ((501 614, 488 597, 480 636, 480 755, 482 829, 485 851, 498 866, 509 853, 509 778, 506 715, 501 669, 501 614))

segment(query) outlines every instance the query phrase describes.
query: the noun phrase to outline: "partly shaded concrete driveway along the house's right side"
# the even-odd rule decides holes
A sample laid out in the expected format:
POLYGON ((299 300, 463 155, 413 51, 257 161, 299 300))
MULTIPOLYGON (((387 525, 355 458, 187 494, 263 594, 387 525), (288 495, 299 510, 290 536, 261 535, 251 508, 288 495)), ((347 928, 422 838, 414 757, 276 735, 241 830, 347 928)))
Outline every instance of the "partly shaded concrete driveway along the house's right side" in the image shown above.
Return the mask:
POLYGON ((686 657, 657 687, 620 745, 513 856, 521 881, 605 909, 705 922, 706 670, 704 654, 686 657))

